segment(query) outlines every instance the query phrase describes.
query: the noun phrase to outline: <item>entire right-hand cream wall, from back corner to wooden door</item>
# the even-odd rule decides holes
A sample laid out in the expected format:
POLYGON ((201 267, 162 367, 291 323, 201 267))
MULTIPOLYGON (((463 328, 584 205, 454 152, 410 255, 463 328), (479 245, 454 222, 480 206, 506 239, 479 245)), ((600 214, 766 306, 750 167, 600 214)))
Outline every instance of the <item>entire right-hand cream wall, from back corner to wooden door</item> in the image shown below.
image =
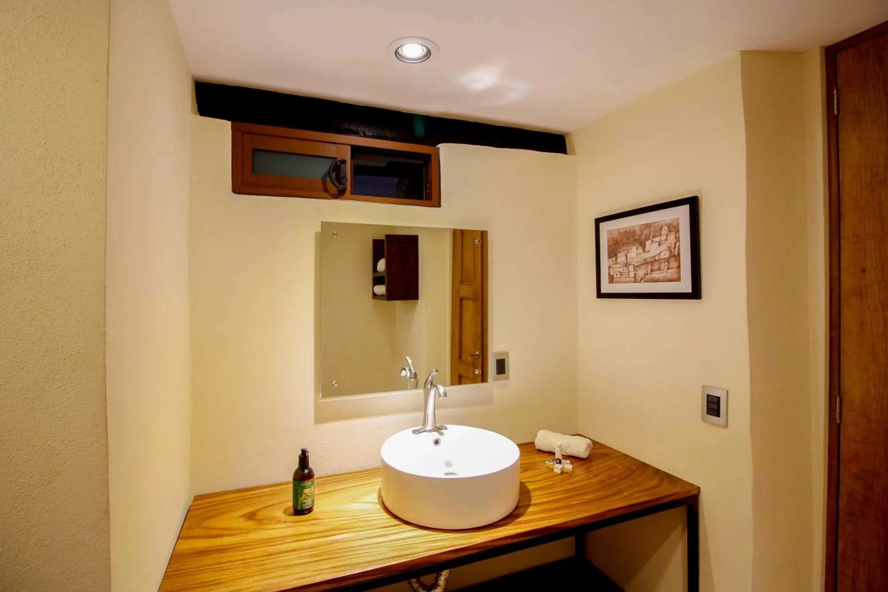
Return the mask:
MULTIPOLYGON (((821 73, 819 50, 743 52, 573 138, 581 245, 596 216, 701 196, 702 301, 596 300, 590 244, 578 304, 580 428, 701 485, 704 590, 822 587, 821 73), (726 430, 701 384, 730 391, 726 430)), ((593 560, 630 592, 684 589, 672 514, 594 533, 593 560)))

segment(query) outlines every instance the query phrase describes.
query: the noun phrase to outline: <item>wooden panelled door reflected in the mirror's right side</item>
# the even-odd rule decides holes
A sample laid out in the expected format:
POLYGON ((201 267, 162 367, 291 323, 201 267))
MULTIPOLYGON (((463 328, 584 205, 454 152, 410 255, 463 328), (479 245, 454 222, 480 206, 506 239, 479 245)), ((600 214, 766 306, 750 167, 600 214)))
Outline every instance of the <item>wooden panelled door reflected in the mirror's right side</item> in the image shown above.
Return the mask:
POLYGON ((488 233, 453 231, 450 384, 488 380, 488 233))

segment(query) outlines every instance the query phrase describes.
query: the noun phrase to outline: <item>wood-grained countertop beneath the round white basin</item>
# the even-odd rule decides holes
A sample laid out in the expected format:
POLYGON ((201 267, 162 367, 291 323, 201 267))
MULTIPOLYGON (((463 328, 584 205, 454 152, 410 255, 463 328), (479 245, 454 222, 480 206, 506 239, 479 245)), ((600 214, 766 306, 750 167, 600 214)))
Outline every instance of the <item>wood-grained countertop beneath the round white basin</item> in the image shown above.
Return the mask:
MULTIPOLYGON (((379 469, 320 477, 316 507, 292 515, 290 482, 194 498, 160 589, 214 592, 326 590, 694 498, 700 488, 595 443, 572 473, 550 453, 521 450, 518 507, 493 525, 440 531, 389 514, 379 469)), ((466 503, 471 503, 467 500, 466 503)))

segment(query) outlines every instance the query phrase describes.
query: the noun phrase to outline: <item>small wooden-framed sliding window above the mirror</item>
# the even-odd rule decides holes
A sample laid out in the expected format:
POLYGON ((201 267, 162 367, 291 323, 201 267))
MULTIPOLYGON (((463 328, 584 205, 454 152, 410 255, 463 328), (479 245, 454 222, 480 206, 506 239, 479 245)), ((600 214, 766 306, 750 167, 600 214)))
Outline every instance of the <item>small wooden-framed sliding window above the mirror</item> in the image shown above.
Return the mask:
POLYGON ((438 148, 231 124, 232 191, 440 207, 438 148))

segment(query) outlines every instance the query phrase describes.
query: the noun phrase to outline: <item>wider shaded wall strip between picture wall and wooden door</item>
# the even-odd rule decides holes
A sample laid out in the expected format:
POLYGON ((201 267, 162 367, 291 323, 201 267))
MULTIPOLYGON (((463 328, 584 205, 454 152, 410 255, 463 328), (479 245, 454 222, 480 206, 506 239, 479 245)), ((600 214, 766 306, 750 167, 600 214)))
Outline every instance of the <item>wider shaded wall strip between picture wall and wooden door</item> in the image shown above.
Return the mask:
POLYGON ((812 589, 803 66, 801 53, 741 53, 756 590, 812 589))

